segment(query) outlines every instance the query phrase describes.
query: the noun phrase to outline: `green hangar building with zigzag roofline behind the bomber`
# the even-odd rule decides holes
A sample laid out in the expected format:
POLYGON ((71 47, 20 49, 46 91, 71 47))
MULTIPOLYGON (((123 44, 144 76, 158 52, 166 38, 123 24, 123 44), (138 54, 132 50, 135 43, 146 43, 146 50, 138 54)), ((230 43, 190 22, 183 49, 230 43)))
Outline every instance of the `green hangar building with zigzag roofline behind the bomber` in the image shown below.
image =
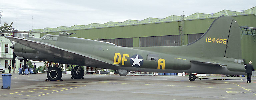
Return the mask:
POLYGON ((125 47, 180 46, 202 36, 212 22, 222 15, 232 16, 240 25, 242 58, 245 64, 256 63, 256 7, 244 11, 222 10, 214 14, 194 13, 189 16, 171 15, 166 18, 126 20, 104 24, 60 26, 32 29, 35 33, 58 35, 59 32, 76 33, 72 37, 100 40, 125 47))

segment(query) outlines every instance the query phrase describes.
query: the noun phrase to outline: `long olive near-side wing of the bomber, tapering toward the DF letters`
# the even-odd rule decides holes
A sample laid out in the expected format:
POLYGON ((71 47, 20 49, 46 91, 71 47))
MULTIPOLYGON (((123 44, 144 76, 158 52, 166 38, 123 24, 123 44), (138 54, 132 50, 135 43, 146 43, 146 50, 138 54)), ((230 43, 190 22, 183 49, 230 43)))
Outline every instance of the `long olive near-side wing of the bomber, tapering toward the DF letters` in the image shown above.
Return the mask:
POLYGON ((7 38, 11 41, 20 43, 22 45, 25 45, 27 47, 30 47, 32 49, 38 50, 45 54, 53 54, 57 57, 61 57, 66 60, 75 60, 75 61, 79 61, 79 62, 84 62, 85 65, 112 65, 112 64, 108 63, 107 61, 92 57, 88 54, 63 49, 63 48, 60 48, 60 47, 57 47, 57 46, 54 46, 54 45, 51 45, 48 43, 44 43, 44 42, 40 42, 40 41, 32 41, 32 40, 28 40, 28 39, 11 37, 11 36, 5 36, 5 38, 7 38))

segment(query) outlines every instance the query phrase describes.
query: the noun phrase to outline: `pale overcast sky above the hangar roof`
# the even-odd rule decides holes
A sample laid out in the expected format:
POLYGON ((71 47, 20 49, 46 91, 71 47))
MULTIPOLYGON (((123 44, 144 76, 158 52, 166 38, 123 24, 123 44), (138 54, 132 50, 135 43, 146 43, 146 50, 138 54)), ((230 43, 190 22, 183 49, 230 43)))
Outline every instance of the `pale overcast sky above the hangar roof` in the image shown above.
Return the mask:
POLYGON ((241 11, 256 6, 256 0, 0 0, 2 22, 18 30, 59 26, 104 24, 148 17, 189 16, 196 12, 241 11), (32 25, 33 16, 33 25, 32 25), (17 18, 17 22, 16 22, 17 18))

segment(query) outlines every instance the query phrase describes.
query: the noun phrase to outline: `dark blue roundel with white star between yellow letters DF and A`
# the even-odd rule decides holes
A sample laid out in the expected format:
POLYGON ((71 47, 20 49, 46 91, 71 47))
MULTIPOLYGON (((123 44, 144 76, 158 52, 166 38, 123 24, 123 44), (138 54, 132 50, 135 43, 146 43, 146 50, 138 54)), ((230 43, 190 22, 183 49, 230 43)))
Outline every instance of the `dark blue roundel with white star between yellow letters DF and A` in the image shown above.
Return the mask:
POLYGON ((141 55, 132 55, 130 58, 130 64, 133 67, 141 67, 143 65, 143 57, 141 55))

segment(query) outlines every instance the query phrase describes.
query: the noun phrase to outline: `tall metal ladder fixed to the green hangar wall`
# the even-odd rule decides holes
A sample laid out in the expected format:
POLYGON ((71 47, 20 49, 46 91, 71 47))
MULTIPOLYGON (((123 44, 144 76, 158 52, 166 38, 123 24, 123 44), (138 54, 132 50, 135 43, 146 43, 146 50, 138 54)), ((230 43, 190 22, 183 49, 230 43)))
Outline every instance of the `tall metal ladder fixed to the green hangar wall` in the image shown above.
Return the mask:
POLYGON ((184 22, 185 15, 181 15, 181 20, 179 20, 179 34, 180 34, 180 45, 184 45, 184 22))

